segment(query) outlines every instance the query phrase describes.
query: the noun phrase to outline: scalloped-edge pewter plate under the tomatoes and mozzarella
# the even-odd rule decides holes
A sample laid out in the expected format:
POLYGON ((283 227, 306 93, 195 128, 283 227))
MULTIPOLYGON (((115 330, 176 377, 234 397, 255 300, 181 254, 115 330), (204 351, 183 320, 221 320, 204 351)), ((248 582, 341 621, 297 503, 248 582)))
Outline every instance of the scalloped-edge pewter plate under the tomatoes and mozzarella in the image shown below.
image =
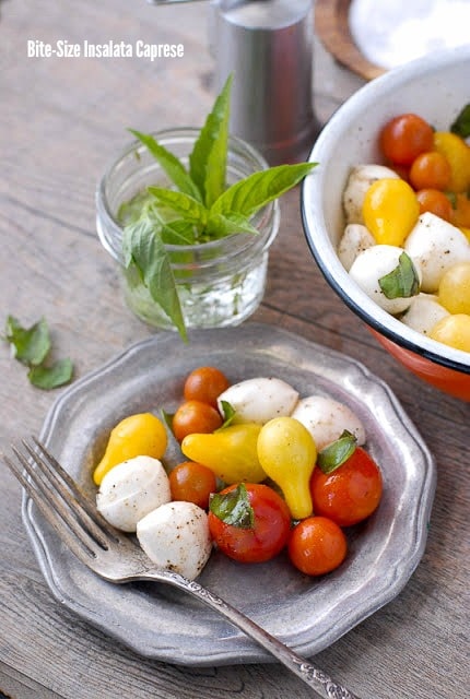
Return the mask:
MULTIPOLYGON (((111 427, 141 411, 172 412, 185 376, 218 366, 235 382, 275 376, 301 395, 328 394, 357 413, 381 465, 378 510, 348 533, 349 555, 314 579, 282 555, 244 566, 214 553, 200 582, 304 655, 324 650, 392 600, 418 566, 435 490, 435 465, 388 387, 363 365, 270 325, 196 331, 189 344, 158 333, 77 381, 57 400, 42 439, 91 494, 91 473, 111 427)), ((173 445, 168 461, 178 459, 173 445)), ((181 665, 268 662, 272 657, 225 619, 160 583, 113 585, 84 568, 27 498, 23 518, 55 597, 138 653, 181 665)))

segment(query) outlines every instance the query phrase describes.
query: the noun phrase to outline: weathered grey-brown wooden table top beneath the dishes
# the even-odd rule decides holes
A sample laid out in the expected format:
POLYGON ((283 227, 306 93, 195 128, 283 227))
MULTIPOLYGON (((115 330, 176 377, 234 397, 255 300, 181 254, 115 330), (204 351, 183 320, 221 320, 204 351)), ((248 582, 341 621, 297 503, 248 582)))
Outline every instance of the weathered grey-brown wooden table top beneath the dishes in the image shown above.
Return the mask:
MULTIPOLYGON (((212 104, 204 3, 14 0, 0 4, 0 293, 24 324, 45 316, 77 377, 151 334, 125 308, 95 233, 94 190, 126 127, 201 123, 212 104), (183 59, 28 58, 27 40, 183 43, 183 59)), ((316 45, 325 121, 362 81, 316 45)), ((302 232, 298 191, 255 319, 364 360, 396 392, 438 467, 428 544, 402 593, 316 657, 363 699, 468 696, 470 406, 414 379, 329 289, 302 232)), ((37 434, 60 389, 30 387, 0 345, 0 445, 37 434)), ((21 521, 21 489, 0 464, 0 689, 14 699, 307 698, 277 664, 188 668, 144 660, 55 602, 21 521)))

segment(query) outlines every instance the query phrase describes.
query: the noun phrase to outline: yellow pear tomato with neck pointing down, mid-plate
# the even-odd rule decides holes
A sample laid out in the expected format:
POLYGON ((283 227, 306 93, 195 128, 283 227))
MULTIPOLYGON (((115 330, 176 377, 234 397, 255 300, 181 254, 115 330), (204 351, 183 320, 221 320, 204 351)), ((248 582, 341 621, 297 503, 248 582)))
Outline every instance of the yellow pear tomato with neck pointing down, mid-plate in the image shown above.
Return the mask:
POLYGON ((301 520, 313 511, 309 482, 317 459, 310 433, 294 417, 274 417, 261 427, 258 457, 281 488, 291 514, 301 520))

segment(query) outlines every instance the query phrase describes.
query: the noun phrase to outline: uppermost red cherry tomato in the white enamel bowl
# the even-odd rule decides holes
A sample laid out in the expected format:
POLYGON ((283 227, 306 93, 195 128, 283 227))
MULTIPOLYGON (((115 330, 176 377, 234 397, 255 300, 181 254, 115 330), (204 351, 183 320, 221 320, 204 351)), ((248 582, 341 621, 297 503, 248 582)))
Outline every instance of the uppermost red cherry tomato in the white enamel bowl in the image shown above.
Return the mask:
POLYGON ((415 114, 402 114, 381 129, 379 144, 385 157, 398 165, 411 165, 421 153, 433 150, 432 127, 415 114))

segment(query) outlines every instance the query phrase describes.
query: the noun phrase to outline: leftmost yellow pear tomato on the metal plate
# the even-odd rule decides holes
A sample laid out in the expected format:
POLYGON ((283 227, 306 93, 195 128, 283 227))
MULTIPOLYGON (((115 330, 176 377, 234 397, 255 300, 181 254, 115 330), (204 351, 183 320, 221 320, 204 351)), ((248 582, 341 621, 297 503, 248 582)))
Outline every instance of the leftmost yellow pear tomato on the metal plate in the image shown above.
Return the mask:
POLYGON ((99 485, 108 471, 134 457, 161 459, 166 445, 165 426, 155 415, 129 415, 111 430, 105 454, 93 473, 93 481, 99 485))

